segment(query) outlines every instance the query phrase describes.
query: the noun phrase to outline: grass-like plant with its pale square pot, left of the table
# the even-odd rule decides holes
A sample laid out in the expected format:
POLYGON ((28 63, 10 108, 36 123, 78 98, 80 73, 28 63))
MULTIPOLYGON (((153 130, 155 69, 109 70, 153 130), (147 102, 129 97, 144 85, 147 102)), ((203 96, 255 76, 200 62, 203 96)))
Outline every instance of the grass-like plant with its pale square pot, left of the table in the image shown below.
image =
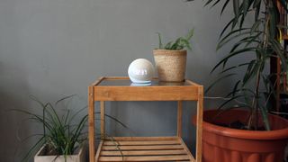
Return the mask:
MULTIPOLYGON (((38 136, 40 139, 23 157, 23 161, 28 161, 36 152, 34 162, 85 162, 85 141, 87 139, 85 127, 88 115, 85 114, 80 118, 77 116, 86 110, 87 106, 73 113, 71 109, 68 109, 67 105, 71 102, 74 104, 71 101, 74 96, 75 94, 63 97, 54 104, 42 103, 36 97, 31 96, 33 101, 39 103, 41 114, 26 110, 13 110, 27 114, 31 121, 36 121, 42 126, 41 134, 29 136, 38 136), (63 115, 58 114, 59 109, 64 110, 63 115)), ((121 123, 121 121, 110 115, 106 116, 113 121, 121 123)), ((124 124, 121 123, 121 125, 127 128, 124 124)), ((95 138, 101 139, 102 137, 107 137, 107 135, 98 135, 95 138)))

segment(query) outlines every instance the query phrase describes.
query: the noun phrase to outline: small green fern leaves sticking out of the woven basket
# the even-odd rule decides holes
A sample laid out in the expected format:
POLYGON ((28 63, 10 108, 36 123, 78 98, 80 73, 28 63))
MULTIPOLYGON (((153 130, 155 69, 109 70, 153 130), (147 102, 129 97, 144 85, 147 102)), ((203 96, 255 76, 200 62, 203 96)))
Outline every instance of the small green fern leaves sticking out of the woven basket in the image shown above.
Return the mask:
POLYGON ((193 29, 188 32, 188 34, 185 37, 179 37, 175 41, 169 41, 164 46, 162 44, 161 34, 157 32, 158 34, 158 40, 159 40, 159 47, 158 49, 167 49, 167 50, 181 50, 181 49, 190 49, 190 40, 193 37, 193 29))

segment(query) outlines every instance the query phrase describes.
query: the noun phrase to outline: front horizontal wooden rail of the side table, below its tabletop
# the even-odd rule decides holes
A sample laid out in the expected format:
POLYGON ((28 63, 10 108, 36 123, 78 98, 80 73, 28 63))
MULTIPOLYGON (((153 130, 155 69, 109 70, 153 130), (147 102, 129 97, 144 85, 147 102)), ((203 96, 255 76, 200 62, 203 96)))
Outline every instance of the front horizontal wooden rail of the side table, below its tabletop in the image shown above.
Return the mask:
POLYGON ((94 86, 95 101, 197 100, 197 86, 94 86))

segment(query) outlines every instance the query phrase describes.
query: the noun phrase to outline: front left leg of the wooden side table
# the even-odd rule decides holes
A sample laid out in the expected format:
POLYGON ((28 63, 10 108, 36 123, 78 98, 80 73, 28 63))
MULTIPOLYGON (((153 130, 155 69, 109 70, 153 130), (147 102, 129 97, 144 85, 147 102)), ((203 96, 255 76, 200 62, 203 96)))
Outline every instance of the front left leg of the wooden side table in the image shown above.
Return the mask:
POLYGON ((89 86, 88 89, 88 122, 89 122, 89 161, 95 161, 95 148, 94 148, 94 86, 89 86))

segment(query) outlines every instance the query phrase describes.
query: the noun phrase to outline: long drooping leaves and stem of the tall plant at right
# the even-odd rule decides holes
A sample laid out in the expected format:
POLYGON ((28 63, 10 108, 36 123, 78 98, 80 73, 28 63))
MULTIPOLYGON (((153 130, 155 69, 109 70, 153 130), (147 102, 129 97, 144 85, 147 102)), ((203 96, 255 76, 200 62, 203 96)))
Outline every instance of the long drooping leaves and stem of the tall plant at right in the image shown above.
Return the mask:
MULTIPOLYGON (((191 1, 191 0, 188 0, 191 1)), ((258 119, 263 120, 266 130, 270 130, 270 124, 267 118, 269 112, 268 101, 273 94, 274 85, 269 83, 270 75, 266 75, 266 68, 270 58, 280 58, 283 64, 283 72, 287 71, 285 57, 286 51, 281 46, 278 37, 277 25, 279 20, 279 11, 275 1, 271 0, 208 0, 205 5, 213 7, 217 4, 223 4, 221 14, 225 11, 228 4, 232 3, 233 17, 227 23, 220 33, 220 41, 217 49, 221 49, 230 43, 231 49, 224 58, 216 64, 211 70, 214 72, 220 68, 220 77, 216 79, 211 86, 220 80, 235 76, 238 68, 245 67, 245 74, 236 82, 234 88, 227 94, 230 99, 220 105, 220 109, 230 109, 232 107, 245 107, 250 109, 249 120, 247 121, 247 130, 257 130, 259 127, 258 119), (221 3, 220 3, 221 2, 221 3), (264 5, 264 6, 261 6, 264 5), (253 16, 254 23, 246 24, 246 18, 253 16), (239 62, 238 65, 229 67, 230 59, 246 56, 252 56, 248 62, 239 62), (270 84, 270 85, 267 85, 270 84), (261 90, 261 87, 266 89, 261 90), (267 95, 267 92, 268 93, 267 95)), ((280 3, 286 9, 287 2, 280 0, 280 3)), ((211 89, 211 86, 208 88, 211 89)))

